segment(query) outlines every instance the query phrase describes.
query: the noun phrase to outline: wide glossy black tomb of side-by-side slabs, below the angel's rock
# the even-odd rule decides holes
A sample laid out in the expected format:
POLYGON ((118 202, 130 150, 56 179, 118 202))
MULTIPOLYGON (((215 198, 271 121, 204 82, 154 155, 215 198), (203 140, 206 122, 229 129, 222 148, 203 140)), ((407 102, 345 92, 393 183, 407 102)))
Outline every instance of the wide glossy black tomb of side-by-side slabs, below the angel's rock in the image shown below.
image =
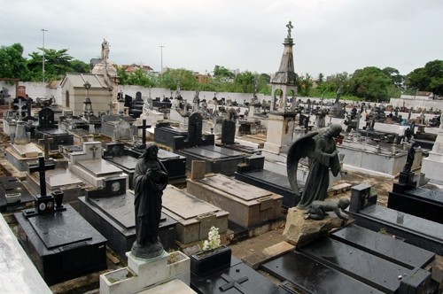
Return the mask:
POLYGON ((415 275, 417 280, 415 288, 408 282, 409 290, 430 284, 431 273, 424 267, 434 257, 434 253, 392 236, 351 225, 268 261, 261 268, 290 282, 284 287, 302 292, 403 293, 402 280, 409 276, 415 275))

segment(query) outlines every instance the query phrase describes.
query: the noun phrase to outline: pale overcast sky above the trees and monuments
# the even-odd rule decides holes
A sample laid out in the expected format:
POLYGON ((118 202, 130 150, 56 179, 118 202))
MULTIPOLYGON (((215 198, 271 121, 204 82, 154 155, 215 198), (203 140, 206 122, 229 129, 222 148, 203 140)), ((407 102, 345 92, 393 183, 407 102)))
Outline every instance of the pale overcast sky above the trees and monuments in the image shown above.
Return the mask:
POLYGON ((69 49, 88 62, 105 38, 110 61, 205 74, 214 66, 274 74, 286 24, 297 74, 366 66, 409 74, 443 59, 441 0, 0 0, 0 45, 69 49), (164 46, 163 58, 161 49, 164 46))

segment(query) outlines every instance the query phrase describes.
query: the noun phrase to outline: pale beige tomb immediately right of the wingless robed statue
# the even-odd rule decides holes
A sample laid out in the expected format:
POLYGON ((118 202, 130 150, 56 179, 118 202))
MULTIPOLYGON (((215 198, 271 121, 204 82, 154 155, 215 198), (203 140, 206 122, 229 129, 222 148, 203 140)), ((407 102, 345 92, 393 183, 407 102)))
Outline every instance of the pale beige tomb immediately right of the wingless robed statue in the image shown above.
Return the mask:
POLYGON ((219 228, 220 234, 228 230, 228 212, 174 186, 168 185, 164 190, 162 205, 163 213, 177 221, 177 241, 180 244, 206 239, 213 226, 219 228))

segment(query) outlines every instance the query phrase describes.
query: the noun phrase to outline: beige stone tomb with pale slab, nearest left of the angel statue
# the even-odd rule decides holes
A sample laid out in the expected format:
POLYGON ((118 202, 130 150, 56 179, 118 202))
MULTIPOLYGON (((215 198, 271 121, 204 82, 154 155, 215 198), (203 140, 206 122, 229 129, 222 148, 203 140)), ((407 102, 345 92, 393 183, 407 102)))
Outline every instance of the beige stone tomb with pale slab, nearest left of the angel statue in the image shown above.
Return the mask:
POLYGON ((282 196, 223 174, 189 179, 187 190, 191 195, 226 210, 229 221, 246 228, 283 218, 282 196))

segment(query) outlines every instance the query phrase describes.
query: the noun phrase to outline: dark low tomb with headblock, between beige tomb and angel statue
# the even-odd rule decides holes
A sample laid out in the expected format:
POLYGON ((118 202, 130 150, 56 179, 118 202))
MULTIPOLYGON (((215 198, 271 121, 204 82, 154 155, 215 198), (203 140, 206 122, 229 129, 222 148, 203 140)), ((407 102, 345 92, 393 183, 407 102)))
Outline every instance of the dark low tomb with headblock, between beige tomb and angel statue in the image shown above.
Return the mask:
MULTIPOLYGON (((299 203, 297 197, 291 189, 288 177, 264 169, 265 158, 259 155, 252 155, 245 158, 245 163, 237 166, 235 178, 242 182, 247 182, 261 189, 282 195, 284 209, 293 207, 299 203)), ((299 182, 300 193, 304 184, 299 182)))

